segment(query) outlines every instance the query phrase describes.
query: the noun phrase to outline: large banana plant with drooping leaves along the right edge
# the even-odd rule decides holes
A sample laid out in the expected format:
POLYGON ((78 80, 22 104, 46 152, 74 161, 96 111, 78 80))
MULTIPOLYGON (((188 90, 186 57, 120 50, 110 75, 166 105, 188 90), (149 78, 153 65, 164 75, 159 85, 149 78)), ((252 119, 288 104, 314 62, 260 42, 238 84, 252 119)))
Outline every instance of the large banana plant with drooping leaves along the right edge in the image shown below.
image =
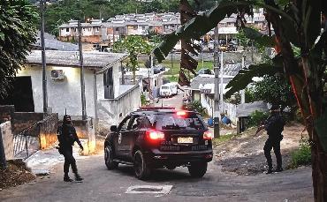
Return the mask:
POLYGON ((253 15, 254 6, 266 9, 265 18, 275 35, 260 34, 247 27, 251 30, 246 31, 247 37, 266 47, 275 47, 278 56, 272 64, 251 65, 240 71, 226 86, 231 87, 228 94, 244 89, 255 76, 273 72, 285 75, 308 131, 315 200, 327 201, 327 92, 323 91, 327 82, 327 30, 324 27, 321 31, 321 17, 327 17, 327 1, 222 0, 217 7, 169 34, 154 50, 156 58, 161 62, 180 38, 196 39, 232 13, 238 15, 237 25, 246 28, 244 14, 253 15), (300 56, 294 47, 300 50, 300 56))

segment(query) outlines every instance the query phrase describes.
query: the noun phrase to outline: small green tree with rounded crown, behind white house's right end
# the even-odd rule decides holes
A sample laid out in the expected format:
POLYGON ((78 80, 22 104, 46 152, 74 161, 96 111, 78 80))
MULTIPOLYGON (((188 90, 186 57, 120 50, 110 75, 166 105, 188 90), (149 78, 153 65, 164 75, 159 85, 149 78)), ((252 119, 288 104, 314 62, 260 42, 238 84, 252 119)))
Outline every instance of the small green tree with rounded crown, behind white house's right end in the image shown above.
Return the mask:
POLYGON ((148 44, 141 36, 127 36, 123 41, 115 42, 113 45, 114 52, 127 52, 129 64, 133 71, 133 83, 135 84, 135 71, 138 68, 138 56, 140 54, 150 54, 153 47, 148 44))

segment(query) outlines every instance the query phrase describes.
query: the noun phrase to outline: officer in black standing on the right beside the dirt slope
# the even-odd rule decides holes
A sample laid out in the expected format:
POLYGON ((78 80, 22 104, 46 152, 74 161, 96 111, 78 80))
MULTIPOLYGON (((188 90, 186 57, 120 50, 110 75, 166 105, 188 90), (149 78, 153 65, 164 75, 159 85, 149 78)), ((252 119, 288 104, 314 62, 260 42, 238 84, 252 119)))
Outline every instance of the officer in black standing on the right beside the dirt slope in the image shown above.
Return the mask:
MULTIPOLYGON (((264 156, 267 159, 268 170, 267 174, 283 171, 282 168, 282 154, 280 153, 280 141, 283 139, 282 131, 284 131, 285 120, 280 114, 280 108, 278 105, 273 105, 270 108, 270 117, 259 127, 258 131, 263 128, 267 131, 268 139, 263 147, 264 156), (271 149, 274 149, 276 155, 277 168, 272 170, 272 160, 271 160, 271 149)), ((257 131, 257 132, 258 132, 257 131)))

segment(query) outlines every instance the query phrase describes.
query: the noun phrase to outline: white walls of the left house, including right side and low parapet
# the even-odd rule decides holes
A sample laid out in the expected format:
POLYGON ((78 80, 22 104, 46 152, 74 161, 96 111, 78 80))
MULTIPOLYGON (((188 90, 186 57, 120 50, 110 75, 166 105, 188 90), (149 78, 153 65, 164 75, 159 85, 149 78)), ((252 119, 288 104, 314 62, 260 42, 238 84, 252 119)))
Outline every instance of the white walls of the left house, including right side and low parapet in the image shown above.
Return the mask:
MULTIPOLYGON (((132 87, 125 94, 119 94, 119 71, 120 64, 113 68, 113 81, 115 99, 104 99, 103 73, 96 75, 97 86, 97 104, 99 125, 108 127, 110 124, 117 124, 128 113, 140 108, 141 92, 140 87, 132 87)), ((80 98, 80 68, 72 67, 54 67, 47 66, 47 90, 48 105, 52 112, 59 114, 59 118, 67 114, 71 116, 81 116, 81 98, 80 98), (54 80, 50 78, 51 70, 64 70, 65 79, 54 80)), ((42 67, 27 67, 19 71, 18 77, 30 76, 32 79, 32 91, 34 98, 34 111, 43 111, 42 99, 42 67)), ((94 94, 94 71, 85 69, 85 95, 87 102, 87 116, 95 117, 95 94, 94 94)))

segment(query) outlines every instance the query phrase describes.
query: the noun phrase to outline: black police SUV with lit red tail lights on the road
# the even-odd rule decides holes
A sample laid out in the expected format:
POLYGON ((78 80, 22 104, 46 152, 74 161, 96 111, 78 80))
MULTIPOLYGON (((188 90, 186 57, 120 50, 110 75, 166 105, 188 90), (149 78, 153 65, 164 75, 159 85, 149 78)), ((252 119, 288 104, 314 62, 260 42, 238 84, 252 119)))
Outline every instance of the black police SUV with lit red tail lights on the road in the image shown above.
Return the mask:
POLYGON ((104 143, 105 165, 133 165, 139 179, 147 179, 154 168, 179 166, 202 177, 212 161, 212 134, 194 111, 141 108, 110 131, 104 143))

